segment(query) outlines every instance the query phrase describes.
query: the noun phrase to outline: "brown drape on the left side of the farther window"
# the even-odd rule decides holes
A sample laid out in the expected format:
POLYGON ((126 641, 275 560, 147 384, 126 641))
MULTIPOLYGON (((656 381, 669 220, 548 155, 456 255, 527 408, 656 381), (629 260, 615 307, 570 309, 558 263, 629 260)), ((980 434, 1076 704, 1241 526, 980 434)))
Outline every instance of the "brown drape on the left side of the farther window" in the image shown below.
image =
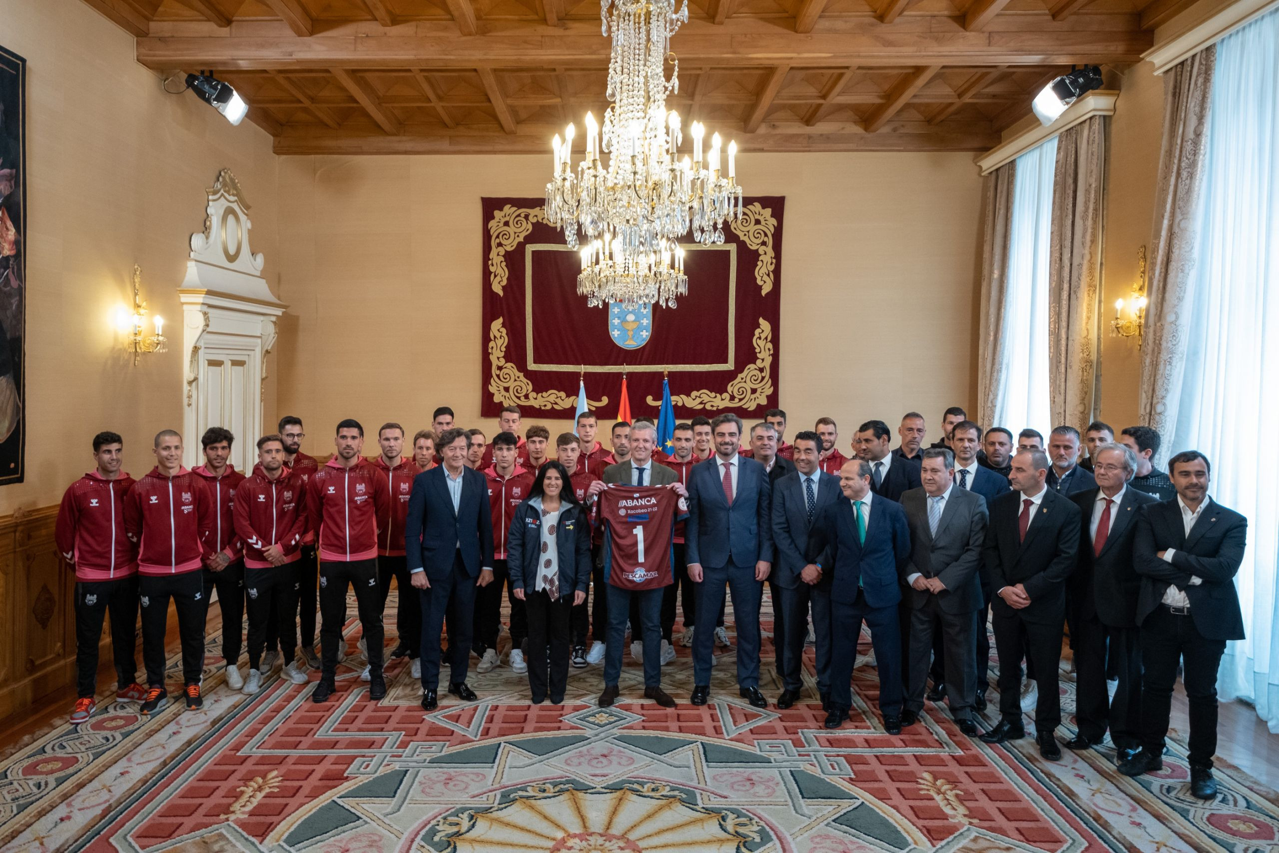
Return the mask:
POLYGON ((1008 240, 1013 220, 1016 161, 985 178, 981 249, 981 339, 977 343, 977 417, 994 423, 999 370, 1004 362, 1004 306, 1008 301, 1008 240))

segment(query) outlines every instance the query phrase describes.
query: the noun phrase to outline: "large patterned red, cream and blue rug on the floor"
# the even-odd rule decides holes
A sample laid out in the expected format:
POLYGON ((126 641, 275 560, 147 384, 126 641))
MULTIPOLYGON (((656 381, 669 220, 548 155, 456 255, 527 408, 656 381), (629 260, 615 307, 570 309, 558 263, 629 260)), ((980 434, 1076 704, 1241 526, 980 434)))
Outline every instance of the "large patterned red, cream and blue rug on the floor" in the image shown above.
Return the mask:
MULTIPOLYGON (((104 702, 88 723, 10 749, 0 761, 3 849, 1279 849, 1275 793, 1221 766, 1218 798, 1193 799, 1177 744, 1161 774, 1133 780, 1115 772, 1110 748, 1049 762, 1032 739, 1009 748, 969 739, 931 703, 920 724, 893 737, 876 710, 872 666, 854 674, 851 721, 828 732, 811 648, 804 700, 787 711, 738 700, 733 648, 718 650, 711 703, 684 703, 692 661, 679 648, 663 670, 682 702, 674 710, 642 698, 642 670, 628 651, 623 698, 610 708, 595 703, 600 666, 569 670, 564 705, 533 706, 527 677, 504 661, 486 675, 472 670, 477 702, 441 694, 427 714, 408 660, 389 666, 388 697, 368 700, 358 630, 347 627, 352 656, 325 705, 311 702, 315 674, 304 685, 274 678, 255 697, 231 692, 223 661, 210 656, 201 711, 171 703, 146 719, 136 705, 104 702)), ((868 638, 862 643, 868 652, 868 638)), ((775 700, 767 638, 764 653, 761 688, 775 700)), ((177 694, 177 657, 170 673, 177 694)), ((1063 705, 1073 710, 1068 679, 1063 705)), ((987 726, 995 706, 993 698, 987 726)), ((1073 732, 1063 725, 1058 734, 1073 732)))

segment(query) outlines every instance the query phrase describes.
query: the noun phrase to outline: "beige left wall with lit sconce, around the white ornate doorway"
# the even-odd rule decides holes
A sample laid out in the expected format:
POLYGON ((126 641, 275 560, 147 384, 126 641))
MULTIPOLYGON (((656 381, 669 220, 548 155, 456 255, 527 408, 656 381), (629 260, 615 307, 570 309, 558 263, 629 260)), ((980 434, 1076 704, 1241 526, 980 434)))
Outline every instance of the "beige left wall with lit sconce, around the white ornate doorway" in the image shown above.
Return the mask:
MULTIPOLYGON (((182 427, 177 288, 205 188, 230 168, 249 202, 253 251, 275 281, 276 169, 270 138, 233 128, 194 95, 165 95, 133 61, 133 38, 81 0, 0 0, 0 41, 27 58, 27 478, 0 513, 56 503, 92 467, 91 439, 125 439, 125 467, 151 468, 150 439, 182 427), (168 353, 125 357, 113 318, 142 266, 168 353)), ((267 407, 274 414, 274 389, 267 407)), ((188 439, 189 440, 189 439, 188 439)))

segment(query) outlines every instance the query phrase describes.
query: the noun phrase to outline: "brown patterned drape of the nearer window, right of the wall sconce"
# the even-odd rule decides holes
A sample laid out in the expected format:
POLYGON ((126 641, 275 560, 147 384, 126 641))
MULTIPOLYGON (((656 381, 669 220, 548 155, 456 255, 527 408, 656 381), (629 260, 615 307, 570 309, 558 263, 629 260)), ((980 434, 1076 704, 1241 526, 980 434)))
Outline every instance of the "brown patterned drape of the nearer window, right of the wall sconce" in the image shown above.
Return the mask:
POLYGON ((1204 134, 1216 46, 1164 74, 1164 128, 1141 356, 1141 419, 1170 437, 1186 368, 1187 289, 1195 267, 1195 211, 1204 187, 1204 134))

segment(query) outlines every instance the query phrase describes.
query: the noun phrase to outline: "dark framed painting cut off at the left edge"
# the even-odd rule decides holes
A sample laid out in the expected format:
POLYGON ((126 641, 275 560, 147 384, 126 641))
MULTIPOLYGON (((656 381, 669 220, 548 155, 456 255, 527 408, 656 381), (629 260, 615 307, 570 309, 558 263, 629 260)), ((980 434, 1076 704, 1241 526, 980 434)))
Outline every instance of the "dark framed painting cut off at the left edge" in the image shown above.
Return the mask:
POLYGON ((22 482, 26 449, 27 60, 0 46, 0 486, 22 482))

